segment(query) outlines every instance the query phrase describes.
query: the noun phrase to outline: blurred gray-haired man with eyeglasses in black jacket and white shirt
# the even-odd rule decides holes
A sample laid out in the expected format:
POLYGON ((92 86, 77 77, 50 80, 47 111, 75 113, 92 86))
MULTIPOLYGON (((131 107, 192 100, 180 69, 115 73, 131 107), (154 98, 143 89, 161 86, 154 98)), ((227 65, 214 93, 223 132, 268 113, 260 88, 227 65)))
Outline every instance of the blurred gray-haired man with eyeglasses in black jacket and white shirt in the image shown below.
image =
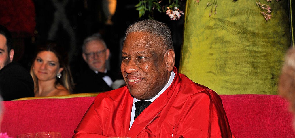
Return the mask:
POLYGON ((82 57, 89 68, 78 78, 74 93, 112 90, 112 75, 106 69, 110 51, 101 36, 94 34, 84 39, 82 52, 82 57))

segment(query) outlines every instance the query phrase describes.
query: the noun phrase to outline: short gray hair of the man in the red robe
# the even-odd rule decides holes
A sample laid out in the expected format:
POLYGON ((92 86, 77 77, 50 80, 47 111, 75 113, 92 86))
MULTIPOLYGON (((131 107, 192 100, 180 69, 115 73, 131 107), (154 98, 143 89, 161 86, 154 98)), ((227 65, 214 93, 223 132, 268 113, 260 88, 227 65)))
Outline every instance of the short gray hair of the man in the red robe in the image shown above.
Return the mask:
MULTIPOLYGON (((172 42, 172 37, 171 37, 171 31, 166 26, 160 21, 152 20, 152 19, 147 19, 143 21, 138 21, 130 25, 127 30, 126 30, 126 35, 125 39, 128 34, 132 32, 147 32, 152 35, 155 35, 159 37, 160 41, 162 41, 166 49, 173 49, 173 42, 172 42)), ((125 41, 125 40, 124 40, 125 41)))

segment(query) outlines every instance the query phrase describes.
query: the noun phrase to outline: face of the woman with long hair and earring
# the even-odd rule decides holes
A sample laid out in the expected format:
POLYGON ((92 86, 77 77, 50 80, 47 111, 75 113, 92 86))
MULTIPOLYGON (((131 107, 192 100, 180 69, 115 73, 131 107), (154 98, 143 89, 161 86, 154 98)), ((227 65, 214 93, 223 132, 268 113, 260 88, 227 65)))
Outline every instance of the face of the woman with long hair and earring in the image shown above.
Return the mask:
POLYGON ((58 58, 51 51, 41 51, 34 61, 34 74, 38 81, 48 81, 56 79, 56 74, 63 71, 58 58))

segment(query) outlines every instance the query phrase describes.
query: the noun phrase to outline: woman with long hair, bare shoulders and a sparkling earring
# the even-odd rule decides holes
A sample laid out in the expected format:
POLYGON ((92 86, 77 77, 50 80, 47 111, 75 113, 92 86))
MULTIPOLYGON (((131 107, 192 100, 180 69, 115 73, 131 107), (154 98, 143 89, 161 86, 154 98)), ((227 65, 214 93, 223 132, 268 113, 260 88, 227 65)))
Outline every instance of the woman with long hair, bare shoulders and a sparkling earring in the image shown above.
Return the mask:
POLYGON ((73 79, 67 53, 50 42, 41 46, 31 66, 35 97, 71 94, 73 79))

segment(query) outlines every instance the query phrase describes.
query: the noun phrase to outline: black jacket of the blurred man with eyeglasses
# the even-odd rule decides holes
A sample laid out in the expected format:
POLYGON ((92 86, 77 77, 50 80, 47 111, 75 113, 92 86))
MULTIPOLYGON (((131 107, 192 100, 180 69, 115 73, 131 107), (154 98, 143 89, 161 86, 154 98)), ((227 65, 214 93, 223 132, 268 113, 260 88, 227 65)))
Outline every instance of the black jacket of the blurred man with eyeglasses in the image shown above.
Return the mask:
POLYGON ((77 79, 73 93, 106 92, 112 90, 102 79, 105 75, 111 77, 114 81, 114 77, 109 74, 109 71, 106 74, 100 72, 96 74, 93 70, 87 68, 77 79))

